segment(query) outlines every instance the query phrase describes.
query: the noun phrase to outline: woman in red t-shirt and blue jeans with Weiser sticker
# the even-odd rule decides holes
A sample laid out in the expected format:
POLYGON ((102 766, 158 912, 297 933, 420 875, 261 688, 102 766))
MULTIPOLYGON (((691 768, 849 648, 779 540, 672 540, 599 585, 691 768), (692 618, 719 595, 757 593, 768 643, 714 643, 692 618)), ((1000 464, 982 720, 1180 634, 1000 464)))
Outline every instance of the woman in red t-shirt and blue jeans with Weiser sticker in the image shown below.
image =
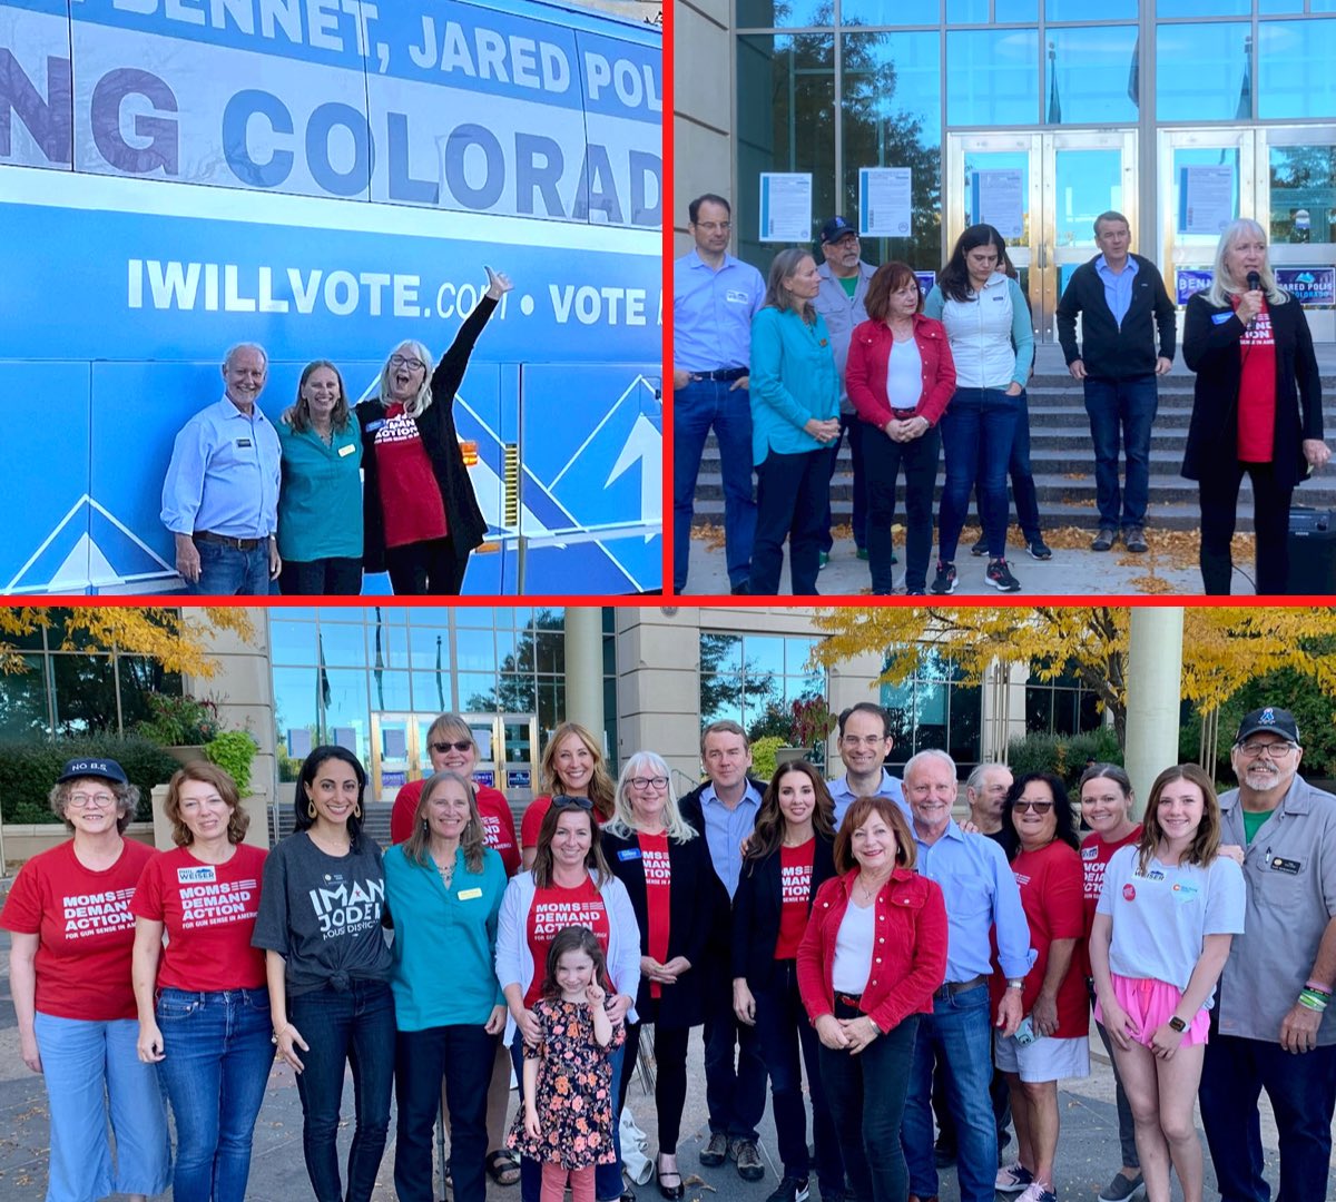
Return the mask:
POLYGON ((139 1059, 159 1066, 176 1119, 172 1197, 243 1202, 274 1062, 265 952, 250 942, 266 852, 242 841, 250 817, 214 764, 179 769, 163 813, 176 848, 148 861, 130 903, 139 1059))

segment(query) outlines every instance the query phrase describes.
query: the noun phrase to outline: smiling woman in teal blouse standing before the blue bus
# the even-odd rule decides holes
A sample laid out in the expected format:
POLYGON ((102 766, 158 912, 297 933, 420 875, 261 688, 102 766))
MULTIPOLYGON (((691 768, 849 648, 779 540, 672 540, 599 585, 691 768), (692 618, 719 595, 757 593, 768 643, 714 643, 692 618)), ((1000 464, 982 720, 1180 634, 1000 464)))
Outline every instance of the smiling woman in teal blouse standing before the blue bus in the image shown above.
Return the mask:
POLYGON ((362 431, 343 377, 327 359, 306 365, 278 439, 278 586, 303 597, 355 597, 362 592, 362 431))

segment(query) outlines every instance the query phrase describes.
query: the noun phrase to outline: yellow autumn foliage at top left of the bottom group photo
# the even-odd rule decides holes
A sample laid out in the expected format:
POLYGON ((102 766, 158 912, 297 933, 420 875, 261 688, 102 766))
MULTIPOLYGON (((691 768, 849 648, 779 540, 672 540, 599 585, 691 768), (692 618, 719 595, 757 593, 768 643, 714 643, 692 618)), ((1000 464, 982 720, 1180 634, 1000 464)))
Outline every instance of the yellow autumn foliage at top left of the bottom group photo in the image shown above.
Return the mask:
POLYGON ((255 637, 246 609, 222 605, 178 609, 154 605, 16 605, 0 609, 0 672, 28 668, 16 640, 37 630, 55 630, 65 650, 106 650, 148 656, 167 672, 212 677, 218 661, 207 646, 230 632, 244 641, 255 637))

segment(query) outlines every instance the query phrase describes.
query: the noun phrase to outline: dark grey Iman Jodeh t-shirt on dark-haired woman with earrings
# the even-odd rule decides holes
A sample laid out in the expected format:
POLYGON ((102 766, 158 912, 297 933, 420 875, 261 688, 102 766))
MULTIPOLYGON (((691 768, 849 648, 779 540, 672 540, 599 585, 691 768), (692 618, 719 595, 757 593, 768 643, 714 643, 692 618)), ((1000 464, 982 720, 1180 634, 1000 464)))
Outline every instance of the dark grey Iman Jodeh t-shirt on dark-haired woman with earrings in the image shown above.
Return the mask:
POLYGON ((362 835, 346 856, 322 852, 299 831, 265 860, 254 947, 287 962, 290 996, 353 979, 389 980, 390 950, 381 930, 385 872, 381 848, 362 835))

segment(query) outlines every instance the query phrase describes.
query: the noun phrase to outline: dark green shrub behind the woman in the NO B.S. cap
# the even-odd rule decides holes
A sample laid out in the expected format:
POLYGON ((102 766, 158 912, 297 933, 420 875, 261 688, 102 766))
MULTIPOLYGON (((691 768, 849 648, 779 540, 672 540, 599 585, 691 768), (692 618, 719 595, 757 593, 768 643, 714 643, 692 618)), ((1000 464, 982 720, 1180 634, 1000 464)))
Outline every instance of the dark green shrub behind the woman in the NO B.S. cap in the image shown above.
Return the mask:
POLYGON ((47 803, 60 769, 79 756, 102 756, 126 769, 139 785, 135 817, 154 816, 154 785, 167 784, 180 767, 167 752, 138 735, 81 735, 47 743, 0 743, 0 815, 7 823, 59 823, 47 803))

